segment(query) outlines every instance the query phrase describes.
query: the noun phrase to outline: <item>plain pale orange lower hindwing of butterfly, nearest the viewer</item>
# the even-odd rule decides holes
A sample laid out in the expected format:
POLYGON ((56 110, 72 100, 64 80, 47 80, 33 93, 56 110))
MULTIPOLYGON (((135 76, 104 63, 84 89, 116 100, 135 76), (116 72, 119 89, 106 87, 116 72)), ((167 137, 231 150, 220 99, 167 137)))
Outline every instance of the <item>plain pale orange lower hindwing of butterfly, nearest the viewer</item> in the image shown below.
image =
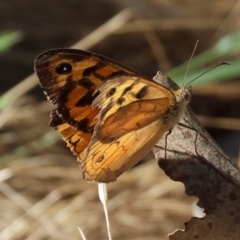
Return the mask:
POLYGON ((163 124, 163 119, 159 119, 107 143, 93 136, 81 164, 84 178, 98 182, 115 181, 134 166, 165 133, 163 124))

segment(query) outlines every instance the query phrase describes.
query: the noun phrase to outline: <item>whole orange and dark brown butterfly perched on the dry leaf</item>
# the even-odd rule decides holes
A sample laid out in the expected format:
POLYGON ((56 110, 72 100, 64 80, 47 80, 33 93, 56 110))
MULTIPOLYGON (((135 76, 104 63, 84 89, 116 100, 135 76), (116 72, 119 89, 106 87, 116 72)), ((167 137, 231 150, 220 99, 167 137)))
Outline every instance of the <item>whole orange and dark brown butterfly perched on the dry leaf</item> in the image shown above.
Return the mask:
POLYGON ((77 156, 88 181, 115 181, 171 131, 190 101, 190 87, 170 90, 87 51, 49 50, 34 67, 53 104, 50 126, 77 156))

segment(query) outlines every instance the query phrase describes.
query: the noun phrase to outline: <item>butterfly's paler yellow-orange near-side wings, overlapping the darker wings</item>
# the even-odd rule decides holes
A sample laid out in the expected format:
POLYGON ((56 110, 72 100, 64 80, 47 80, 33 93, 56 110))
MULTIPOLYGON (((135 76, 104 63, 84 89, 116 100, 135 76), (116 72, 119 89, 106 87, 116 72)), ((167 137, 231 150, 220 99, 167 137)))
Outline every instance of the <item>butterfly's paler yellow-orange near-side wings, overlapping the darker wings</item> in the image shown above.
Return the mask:
POLYGON ((89 180, 114 181, 135 165, 165 133, 164 117, 175 105, 174 95, 154 82, 136 76, 118 80, 96 90, 93 107, 100 113, 81 165, 89 180))

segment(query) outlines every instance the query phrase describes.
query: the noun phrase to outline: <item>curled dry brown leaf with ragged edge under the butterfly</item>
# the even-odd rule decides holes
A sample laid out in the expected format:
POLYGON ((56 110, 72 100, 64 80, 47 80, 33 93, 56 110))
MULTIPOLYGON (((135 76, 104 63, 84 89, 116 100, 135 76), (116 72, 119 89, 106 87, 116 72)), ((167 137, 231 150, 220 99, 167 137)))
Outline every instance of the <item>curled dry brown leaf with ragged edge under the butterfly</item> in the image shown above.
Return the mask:
MULTIPOLYGON (((163 79, 161 72, 154 79, 178 88, 169 78, 163 79)), ((193 217, 185 224, 185 230, 177 229, 169 234, 169 239, 239 240, 239 168, 224 155, 190 107, 167 141, 161 139, 153 153, 171 179, 184 183, 186 194, 199 198, 198 205, 206 213, 203 218, 193 217)))

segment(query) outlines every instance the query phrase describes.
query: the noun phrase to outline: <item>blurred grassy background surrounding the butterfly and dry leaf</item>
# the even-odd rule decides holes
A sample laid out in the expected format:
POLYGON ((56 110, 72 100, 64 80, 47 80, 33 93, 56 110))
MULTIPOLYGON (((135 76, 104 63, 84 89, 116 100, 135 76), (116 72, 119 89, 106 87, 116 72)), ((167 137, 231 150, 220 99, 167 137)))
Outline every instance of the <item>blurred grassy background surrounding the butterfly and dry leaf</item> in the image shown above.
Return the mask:
MULTIPOLYGON (((48 126, 51 104, 33 73, 38 54, 75 47, 112 58, 152 78, 185 84, 191 107, 234 161, 240 143, 240 2, 237 0, 24 0, 0 3, 0 239, 107 239, 96 183, 48 126), (30 76, 30 77, 29 77, 30 76)), ((114 239, 167 239, 191 216, 186 196, 149 154, 108 184, 114 239)))

